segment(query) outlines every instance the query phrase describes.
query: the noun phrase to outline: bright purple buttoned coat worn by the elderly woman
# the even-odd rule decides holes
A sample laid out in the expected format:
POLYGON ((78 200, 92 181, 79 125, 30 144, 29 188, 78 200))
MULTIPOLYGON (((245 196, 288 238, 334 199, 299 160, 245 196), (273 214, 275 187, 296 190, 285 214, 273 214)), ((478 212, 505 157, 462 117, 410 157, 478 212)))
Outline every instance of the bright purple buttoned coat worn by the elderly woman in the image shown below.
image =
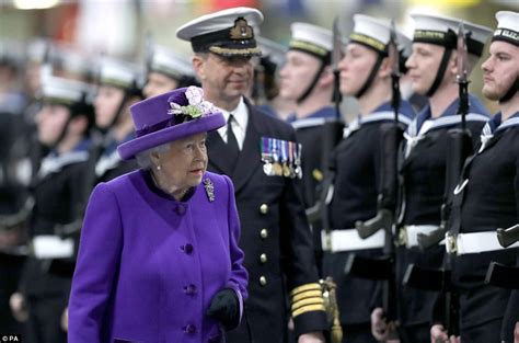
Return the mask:
POLYGON ((239 235, 227 176, 207 172, 186 202, 142 170, 99 184, 72 281, 69 343, 220 342, 221 325, 205 312, 224 287, 247 295, 239 235))

